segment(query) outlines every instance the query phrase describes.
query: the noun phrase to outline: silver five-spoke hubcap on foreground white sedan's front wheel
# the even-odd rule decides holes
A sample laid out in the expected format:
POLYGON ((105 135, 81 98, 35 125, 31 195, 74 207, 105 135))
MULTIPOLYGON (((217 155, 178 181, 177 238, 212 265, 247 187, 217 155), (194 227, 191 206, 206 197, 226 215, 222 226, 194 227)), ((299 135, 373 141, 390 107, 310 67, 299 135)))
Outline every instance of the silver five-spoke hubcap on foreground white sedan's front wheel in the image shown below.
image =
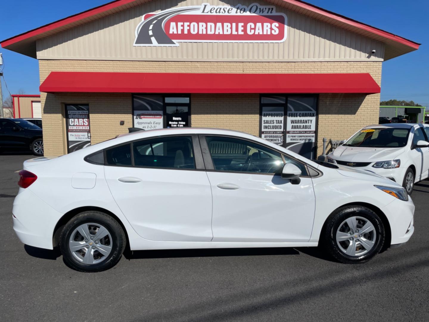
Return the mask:
POLYGON ((375 227, 368 219, 355 216, 344 220, 338 227, 337 245, 344 254, 361 256, 375 245, 375 227))

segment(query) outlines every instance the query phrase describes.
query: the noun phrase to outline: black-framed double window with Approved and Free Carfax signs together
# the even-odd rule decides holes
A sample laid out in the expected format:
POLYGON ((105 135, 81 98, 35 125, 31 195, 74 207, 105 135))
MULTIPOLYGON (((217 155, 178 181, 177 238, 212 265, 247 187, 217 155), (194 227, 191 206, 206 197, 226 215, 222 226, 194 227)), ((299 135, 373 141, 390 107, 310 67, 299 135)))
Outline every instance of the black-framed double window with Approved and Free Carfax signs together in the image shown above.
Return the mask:
POLYGON ((316 95, 261 95, 260 106, 263 139, 316 158, 316 95))

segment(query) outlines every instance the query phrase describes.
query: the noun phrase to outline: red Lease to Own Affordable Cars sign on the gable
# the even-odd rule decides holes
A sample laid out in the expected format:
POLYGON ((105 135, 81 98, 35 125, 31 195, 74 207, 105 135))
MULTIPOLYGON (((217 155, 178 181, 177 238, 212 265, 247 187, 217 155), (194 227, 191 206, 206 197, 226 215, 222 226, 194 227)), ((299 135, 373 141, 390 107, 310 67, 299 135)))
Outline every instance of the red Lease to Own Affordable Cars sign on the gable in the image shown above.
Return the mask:
POLYGON ((136 28, 134 46, 178 42, 282 43, 287 18, 275 6, 186 6, 148 13, 136 28))

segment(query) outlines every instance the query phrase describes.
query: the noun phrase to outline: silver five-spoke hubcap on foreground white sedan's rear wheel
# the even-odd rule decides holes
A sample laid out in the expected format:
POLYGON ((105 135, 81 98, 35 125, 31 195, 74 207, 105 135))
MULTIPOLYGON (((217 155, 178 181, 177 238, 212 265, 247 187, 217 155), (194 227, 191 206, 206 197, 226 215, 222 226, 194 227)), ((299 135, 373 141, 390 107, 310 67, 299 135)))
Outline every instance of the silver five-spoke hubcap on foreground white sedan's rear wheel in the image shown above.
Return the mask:
POLYGON ((112 252, 112 236, 100 224, 85 223, 70 236, 69 249, 74 258, 84 264, 97 264, 112 252))

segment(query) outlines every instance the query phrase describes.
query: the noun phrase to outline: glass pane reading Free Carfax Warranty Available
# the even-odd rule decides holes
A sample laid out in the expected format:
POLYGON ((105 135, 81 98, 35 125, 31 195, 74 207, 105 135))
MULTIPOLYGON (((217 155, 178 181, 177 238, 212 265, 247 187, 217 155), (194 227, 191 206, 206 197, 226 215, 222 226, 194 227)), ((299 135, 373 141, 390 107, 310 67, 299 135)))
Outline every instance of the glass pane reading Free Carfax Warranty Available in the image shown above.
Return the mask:
POLYGON ((286 148, 314 158, 316 144, 316 97, 287 98, 286 148))

